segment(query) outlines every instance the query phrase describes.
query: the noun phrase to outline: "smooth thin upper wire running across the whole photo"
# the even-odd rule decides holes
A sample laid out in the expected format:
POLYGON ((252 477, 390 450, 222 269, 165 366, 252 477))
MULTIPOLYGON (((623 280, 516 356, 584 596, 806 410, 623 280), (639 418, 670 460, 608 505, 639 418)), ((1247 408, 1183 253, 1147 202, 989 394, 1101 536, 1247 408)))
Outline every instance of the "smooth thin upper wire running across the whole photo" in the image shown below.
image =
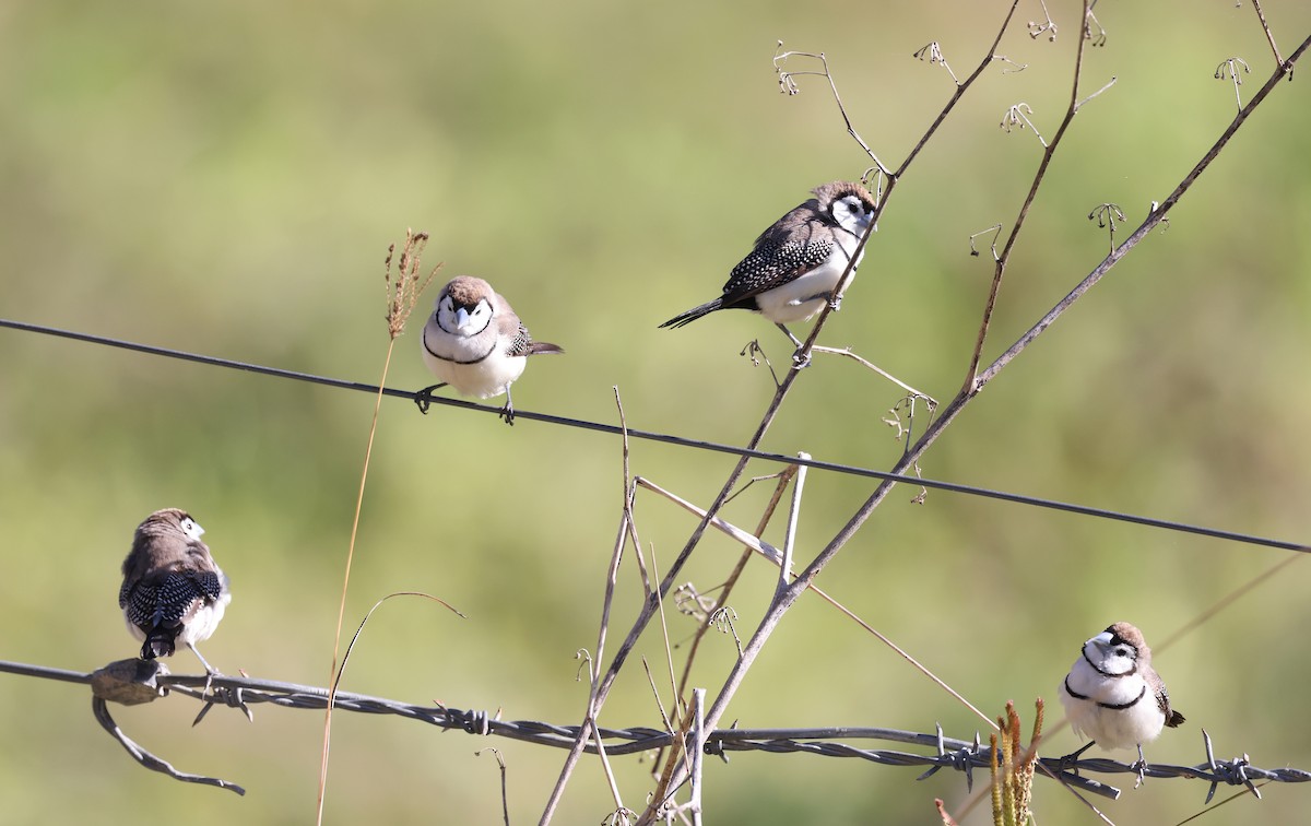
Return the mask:
MULTIPOLYGON (((273 376, 278 379, 295 379, 298 382, 309 382, 312 384, 323 384, 325 387, 336 387, 338 389, 353 389, 370 395, 383 393, 385 396, 393 396, 396 399, 408 399, 413 401, 418 393, 413 391, 402 391, 391 387, 379 388, 376 384, 364 384, 362 382, 346 382, 343 379, 333 379, 329 376, 320 376, 308 372, 298 372, 294 370, 282 370, 279 367, 265 367, 262 364, 252 364, 248 362, 239 362, 233 359, 218 358, 214 355, 202 355, 199 353, 187 353, 184 350, 173 350, 170 347, 156 347, 151 345, 136 344, 132 341, 122 341, 117 338, 108 338, 104 336, 93 336, 90 333, 79 333, 75 330, 64 330, 54 326, 45 326, 41 324, 28 324, 25 321, 13 321, 9 319, 0 319, 0 328, 9 328, 14 330, 21 330, 26 333, 41 333, 45 336, 56 336, 60 338, 71 338, 73 341, 81 341, 87 344, 97 344, 108 347, 119 347, 123 350, 132 350, 135 353, 146 353, 149 355, 160 355, 164 358, 176 358, 187 362, 197 362, 201 364, 208 364, 211 367, 227 367, 229 370, 243 370, 246 372, 256 372, 260 375, 273 376)), ((493 413, 496 416, 501 414, 501 408, 473 404, 472 401, 464 401, 460 399, 450 399, 444 396, 435 396, 431 399, 433 404, 442 404, 452 408, 463 408, 465 410, 479 410, 482 413, 493 413)), ((1287 541, 1281 539, 1270 539, 1266 536, 1256 536, 1252 534, 1239 534, 1235 531, 1223 531, 1219 528, 1210 528, 1200 524, 1189 524, 1185 522, 1173 522, 1169 519, 1156 519, 1154 517, 1142 517, 1137 514, 1129 514, 1116 510, 1105 510, 1101 507, 1089 507, 1087 505, 1075 505, 1072 502, 1061 502, 1058 500, 1046 500, 1034 496, 1025 496, 1021 493, 1008 493, 1004 490, 992 490, 990 488, 978 488, 974 485, 962 485, 957 482, 940 481, 933 479, 920 479, 918 476, 905 476, 899 473, 888 473, 884 471, 874 471, 872 468, 863 468, 851 464, 842 464, 836 462, 823 462, 819 459, 800 459, 797 456, 788 456, 784 454, 771 454, 760 450, 750 450, 746 447, 737 447, 734 444, 721 444, 718 442, 705 442, 701 439, 688 439, 684 437, 676 437, 665 433, 653 433, 649 430, 633 430, 632 427, 627 431, 619 425, 607 425, 603 422, 593 422, 581 418, 569 418, 565 416, 552 416, 549 413, 534 413, 531 410, 514 412, 515 418, 524 418, 530 421, 539 421, 548 425, 560 425, 565 427, 578 427, 582 430, 595 430, 599 433, 610 433, 614 435, 627 435, 633 439, 645 439, 650 442, 663 442, 666 444, 676 444, 679 447, 690 447, 694 450, 705 450, 720 454, 732 454, 735 456, 749 456, 751 459, 760 459, 763 462, 773 462, 777 464, 804 464, 809 468, 815 468, 818 471, 830 471, 834 473, 846 473, 848 476, 863 476, 868 479, 878 479, 886 481, 905 482, 907 485, 920 485, 924 488, 933 488, 935 490, 947 490, 949 493, 962 493, 966 496, 978 496, 991 500, 1000 500, 1003 502, 1015 502, 1017 505, 1029 505, 1033 507, 1045 507, 1049 510, 1059 510, 1071 514, 1080 514, 1084 517, 1095 517, 1099 519, 1114 519, 1117 522, 1129 522, 1133 524, 1142 524, 1147 527, 1163 528, 1167 531, 1177 531, 1183 534, 1196 534, 1198 536, 1210 536, 1213 539, 1224 539, 1230 541, 1238 541, 1249 545, 1262 545, 1268 548, 1280 548, 1283 551, 1298 551, 1301 553, 1311 553, 1311 544, 1287 541)))

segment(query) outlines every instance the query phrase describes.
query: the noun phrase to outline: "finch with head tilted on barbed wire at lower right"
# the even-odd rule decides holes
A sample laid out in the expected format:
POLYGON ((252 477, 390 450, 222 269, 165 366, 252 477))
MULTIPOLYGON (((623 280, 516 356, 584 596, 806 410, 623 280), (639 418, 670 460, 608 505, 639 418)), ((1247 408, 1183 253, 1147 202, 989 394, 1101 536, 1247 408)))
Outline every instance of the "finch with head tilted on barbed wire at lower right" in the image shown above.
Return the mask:
POLYGON ((1163 728, 1184 722, 1151 667, 1142 632, 1129 623, 1116 623, 1084 642, 1057 694, 1075 734, 1092 738, 1063 759, 1078 759, 1093 743, 1108 750, 1137 746, 1139 783, 1147 766, 1142 745, 1163 728))

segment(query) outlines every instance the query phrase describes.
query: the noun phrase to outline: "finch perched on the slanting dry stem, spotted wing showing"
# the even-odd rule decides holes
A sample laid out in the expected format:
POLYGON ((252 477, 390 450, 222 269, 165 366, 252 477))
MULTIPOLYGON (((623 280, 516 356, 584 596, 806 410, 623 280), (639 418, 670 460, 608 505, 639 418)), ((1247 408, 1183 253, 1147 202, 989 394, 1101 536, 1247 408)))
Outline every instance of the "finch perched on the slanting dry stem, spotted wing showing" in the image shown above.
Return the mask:
MULTIPOLYGON (((729 273, 724 295, 661 326, 683 326, 717 309, 751 309, 773 321, 800 347, 801 341, 785 325, 805 321, 825 303, 838 308, 838 282, 876 208, 873 195, 860 184, 834 181, 813 191, 814 198, 760 233, 751 252, 729 273)), ((852 271, 861 256, 851 265, 852 271)))

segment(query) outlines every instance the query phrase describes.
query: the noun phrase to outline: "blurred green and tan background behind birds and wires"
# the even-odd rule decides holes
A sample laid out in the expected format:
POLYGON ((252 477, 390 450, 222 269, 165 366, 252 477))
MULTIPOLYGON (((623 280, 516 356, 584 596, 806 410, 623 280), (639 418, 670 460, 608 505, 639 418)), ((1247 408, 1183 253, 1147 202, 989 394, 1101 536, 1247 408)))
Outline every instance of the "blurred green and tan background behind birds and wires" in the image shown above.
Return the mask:
MULTIPOLYGON (((998 128, 1028 102, 1050 138, 1068 98, 1078 14, 1047 4, 1054 43, 1020 25, 898 187, 822 344, 852 346, 949 399, 974 342, 991 266, 968 236, 1009 227, 1040 157, 1029 130, 998 128)), ((431 233, 440 279, 490 279, 534 334, 569 350, 530 366, 520 409, 745 442, 771 396, 738 355, 781 337, 749 313, 670 332, 657 324, 718 294, 770 222, 869 165, 822 79, 779 93, 777 39, 825 51, 863 136, 897 164, 952 92, 911 52, 939 41, 958 76, 985 54, 1004 4, 8 3, 0 9, 0 316, 359 382, 387 347, 382 261, 406 227, 431 233), (968 5, 968 8, 966 8, 968 5)), ((1217 63, 1273 69, 1249 5, 1103 4, 1086 90, 1116 85, 1075 121, 1013 258, 995 355, 1104 254, 1086 219, 1116 202, 1135 226, 1235 111, 1217 63)), ((1269 4, 1281 47, 1311 7, 1269 4)), ((806 68, 794 62, 791 68, 806 68)), ((1306 71, 1306 69, 1303 69, 1306 71)), ((1311 98, 1298 72, 1242 131, 1167 232, 1126 261, 979 396, 922 463, 924 475, 1106 509, 1306 541, 1311 481, 1311 98)), ((1127 235, 1127 231, 1126 233, 1127 235)), ((1122 237, 1122 236, 1121 236, 1122 237)), ((430 383, 414 334, 389 384, 430 383)), ((901 450, 880 422, 890 384, 817 358, 764 447, 884 468, 901 450)), ((232 578, 203 646, 227 673, 324 684, 372 399, 127 351, 0 330, 0 657, 92 670, 134 642, 115 604, 132 528, 189 509, 232 578)), ((633 471, 705 503, 728 456, 635 443, 633 471)), ((751 473, 772 471, 753 465, 751 473)), ((869 494, 868 480, 812 473, 800 555, 813 555, 869 494)), ((1080 642, 1126 619, 1160 641, 1285 552, 987 500, 898 489, 819 585, 988 713, 1055 686, 1080 642)), ((753 526, 756 486, 726 515, 753 526)), ((366 628, 343 688, 414 703, 576 722, 620 506, 614 437, 408 401, 382 409, 350 582, 347 628, 396 590, 465 614, 393 600, 366 628)), ((661 569, 692 522, 638 501, 661 569)), ((771 532, 777 540, 781 522, 771 532)), ((684 580, 708 591, 738 549, 709 538, 684 580)), ((1159 652, 1185 728, 1148 749, 1311 768, 1302 695, 1311 572, 1295 565, 1159 652), (1290 725, 1291 722, 1291 725, 1290 725)), ((733 604, 747 636, 772 589, 754 564, 733 604)), ((625 568, 610 652, 640 600, 625 568)), ((670 616, 686 641, 692 621, 670 616)), ((658 635, 640 646, 657 674, 658 635)), ((686 648, 675 650, 680 658, 686 648)), ((732 641, 711 639, 695 684, 712 695, 732 641)), ((193 671, 189 654, 177 671, 193 671)), ((667 680, 666 680, 667 682, 667 680)), ((667 694, 667 692, 666 692, 667 694)), ((666 704, 669 698, 665 698, 666 704)), ((94 725, 84 688, 0 675, 0 821, 303 823, 313 817, 323 717, 256 708, 254 725, 193 703, 117 709, 142 745, 246 797, 147 772, 94 725)), ((726 722, 876 725, 969 737, 981 721, 815 599, 773 635, 726 722)), ((658 726, 640 663, 603 725, 658 726)), ((1068 730, 1054 754, 1078 745, 1068 730)), ((353 822, 534 822, 564 754, 439 734, 396 718, 336 717, 328 817, 353 822)), ((1117 757, 1126 757, 1124 754, 1117 757)), ((649 762, 616 759, 641 809, 649 762)), ((806 755, 734 755, 707 767, 708 822, 933 822, 960 808, 941 772, 806 755)), ((1131 783, 1113 779, 1129 789, 1131 783)), ((1117 823, 1177 822, 1200 783, 1150 780, 1117 823)), ((1311 791, 1268 787, 1207 822, 1290 822, 1311 791)), ((1221 797, 1224 796, 1222 791, 1221 797)), ((556 822, 614 808, 585 760, 556 822)), ((1042 822, 1092 822, 1037 788, 1042 822)), ((966 822, 983 822, 975 812, 966 822)))

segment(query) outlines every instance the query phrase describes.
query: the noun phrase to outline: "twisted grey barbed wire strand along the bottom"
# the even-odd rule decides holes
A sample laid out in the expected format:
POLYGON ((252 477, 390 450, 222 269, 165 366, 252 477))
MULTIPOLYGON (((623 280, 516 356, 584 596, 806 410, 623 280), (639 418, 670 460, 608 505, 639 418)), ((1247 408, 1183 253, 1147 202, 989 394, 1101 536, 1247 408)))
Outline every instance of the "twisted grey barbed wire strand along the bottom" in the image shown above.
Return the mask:
MULTIPOLYGON (((123 661, 135 663, 135 661, 123 661)), ((110 663, 106 669, 117 663, 110 663)), ((101 671, 105 671, 102 669, 101 671)), ((90 684, 96 674, 69 671, 21 662, 0 661, 0 671, 17 674, 21 677, 35 677, 41 679, 55 679, 71 683, 90 684)), ((299 708, 323 711, 328 705, 328 690, 316 686, 302 686, 278 680, 258 679, 252 677, 228 675, 184 675, 159 673, 151 679, 152 686, 172 690, 206 704, 206 707, 224 703, 240 707, 244 711, 246 704, 270 703, 282 708, 299 708), (214 691, 206 692, 206 684, 211 684, 214 691)), ((114 737, 123 743, 132 757, 155 771, 173 776, 174 779, 216 785, 244 795, 245 789, 215 777, 189 775, 174 770, 169 763, 136 746, 126 734, 118 729, 109 716, 108 703, 104 698, 93 698, 93 707, 97 720, 114 737)), ((509 739, 518 739, 556 749, 569 749, 579 734, 577 725, 553 725, 532 720, 499 720, 482 711, 461 711, 447 705, 414 705, 363 694, 338 691, 333 700, 333 708, 366 713, 366 715, 395 715, 409 720, 417 720, 435 725, 444 730, 459 729, 469 734, 496 736, 509 739)), ((679 733, 670 733, 650 728, 611 729, 595 728, 594 737, 604 741, 606 753, 614 755, 631 755, 669 747, 679 733)), ((919 780, 927 779, 939 770, 950 768, 965 774, 968 787, 973 787, 973 770, 987 770, 990 762, 990 749, 983 746, 975 733, 973 741, 957 739, 943 736, 941 726, 936 733, 927 734, 919 732, 905 732, 901 729, 885 729, 873 726, 815 726, 815 728, 764 728, 764 729, 718 729, 705 732, 704 753, 720 757, 728 762, 728 753, 732 751, 764 751, 770 754, 814 754, 830 758, 856 758, 877 763, 880 766, 915 766, 927 767, 928 771, 919 775, 919 780), (915 754, 889 749, 860 749, 846 742, 851 739, 874 739, 924 746, 932 749, 931 754, 915 754)), ((1197 766, 1175 766, 1168 763, 1150 763, 1143 768, 1143 774, 1160 779, 1190 779, 1203 780, 1209 787, 1207 801, 1215 795, 1221 785, 1242 785, 1248 791, 1253 789, 1255 781, 1273 783, 1308 783, 1311 771, 1299 768, 1260 768, 1253 766, 1244 754, 1234 760, 1217 759, 1210 736, 1202 732, 1206 749, 1206 760, 1197 766)), ((597 754, 597 741, 587 738, 585 749, 589 754, 597 754)), ((1074 772, 1093 774, 1125 774, 1138 775, 1138 767, 1106 758, 1089 758, 1063 762, 1061 758, 1040 758, 1042 764, 1050 770, 1051 775, 1062 783, 1067 783, 1082 791, 1108 798, 1118 798, 1120 789, 1091 777, 1074 772)), ((1038 775, 1045 776, 1045 775, 1038 775)))

